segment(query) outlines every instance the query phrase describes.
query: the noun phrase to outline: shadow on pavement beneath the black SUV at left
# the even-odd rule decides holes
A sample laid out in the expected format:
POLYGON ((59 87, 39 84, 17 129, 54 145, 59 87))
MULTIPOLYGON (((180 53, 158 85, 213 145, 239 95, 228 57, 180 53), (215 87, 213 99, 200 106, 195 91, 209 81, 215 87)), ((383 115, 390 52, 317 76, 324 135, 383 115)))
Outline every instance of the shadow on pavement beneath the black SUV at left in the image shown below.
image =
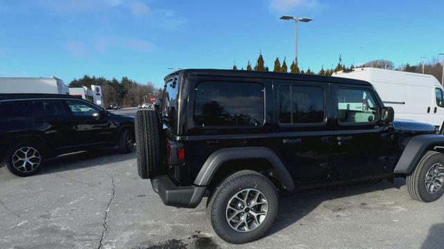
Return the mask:
POLYGON ((96 167, 110 163, 119 163, 125 160, 135 159, 137 154, 120 154, 117 148, 95 149, 93 151, 81 151, 73 154, 65 154, 45 161, 42 169, 37 174, 53 174, 72 169, 96 167))

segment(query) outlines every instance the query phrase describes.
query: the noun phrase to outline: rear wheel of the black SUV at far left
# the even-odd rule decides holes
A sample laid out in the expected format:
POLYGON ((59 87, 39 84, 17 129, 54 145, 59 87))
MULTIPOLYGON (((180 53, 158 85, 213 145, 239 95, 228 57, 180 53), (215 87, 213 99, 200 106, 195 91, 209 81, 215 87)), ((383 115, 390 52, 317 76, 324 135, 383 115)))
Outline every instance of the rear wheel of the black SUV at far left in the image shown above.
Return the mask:
POLYGON ((39 172, 44 163, 40 147, 33 144, 16 144, 6 151, 6 168, 16 176, 32 176, 39 172))

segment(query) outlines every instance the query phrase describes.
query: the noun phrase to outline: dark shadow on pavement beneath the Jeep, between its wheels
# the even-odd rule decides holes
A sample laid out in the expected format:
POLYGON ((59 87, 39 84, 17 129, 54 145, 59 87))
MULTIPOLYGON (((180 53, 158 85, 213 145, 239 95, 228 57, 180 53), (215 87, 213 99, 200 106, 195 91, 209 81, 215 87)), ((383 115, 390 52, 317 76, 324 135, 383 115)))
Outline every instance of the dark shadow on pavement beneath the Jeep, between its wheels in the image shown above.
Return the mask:
MULTIPOLYGON (((296 194, 284 194, 280 198, 279 213, 275 221, 275 224, 268 232, 268 235, 274 234, 283 230, 293 223, 296 223, 304 216, 308 215, 311 211, 316 209, 319 205, 322 205, 324 201, 330 201, 334 199, 340 199, 348 196, 355 196, 359 194, 368 194, 380 190, 387 190, 391 188, 399 189, 402 185, 405 185, 405 180, 402 178, 395 179, 394 183, 388 181, 382 181, 379 183, 357 183, 354 185, 345 185, 338 187, 320 188, 314 190, 304 190, 296 194)), ((367 208, 367 203, 357 203, 349 205, 334 205, 327 206, 326 208, 332 210, 332 212, 344 211, 348 208, 354 208, 351 205, 357 205, 359 208, 367 208)), ((303 225, 303 224, 300 224, 303 225)))

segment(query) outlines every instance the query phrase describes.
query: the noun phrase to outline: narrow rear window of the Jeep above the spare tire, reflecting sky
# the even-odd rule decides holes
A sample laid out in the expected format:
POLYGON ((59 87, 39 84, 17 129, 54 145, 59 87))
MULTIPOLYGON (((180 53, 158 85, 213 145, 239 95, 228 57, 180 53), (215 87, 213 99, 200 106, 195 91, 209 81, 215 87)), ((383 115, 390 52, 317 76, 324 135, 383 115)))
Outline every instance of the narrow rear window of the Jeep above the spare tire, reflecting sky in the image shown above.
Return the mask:
POLYGON ((165 81, 164 98, 162 100, 162 121, 169 127, 174 127, 174 122, 176 121, 178 88, 177 77, 171 77, 165 81))

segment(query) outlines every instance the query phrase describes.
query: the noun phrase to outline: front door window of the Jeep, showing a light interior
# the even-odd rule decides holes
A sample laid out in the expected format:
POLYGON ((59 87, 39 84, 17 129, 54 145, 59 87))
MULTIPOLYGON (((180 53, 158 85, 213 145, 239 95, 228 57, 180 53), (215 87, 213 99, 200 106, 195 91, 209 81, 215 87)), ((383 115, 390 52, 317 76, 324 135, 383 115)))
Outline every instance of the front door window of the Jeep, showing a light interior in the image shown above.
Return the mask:
POLYGON ((341 123, 375 122, 378 108, 370 91, 338 89, 338 120, 341 123))

